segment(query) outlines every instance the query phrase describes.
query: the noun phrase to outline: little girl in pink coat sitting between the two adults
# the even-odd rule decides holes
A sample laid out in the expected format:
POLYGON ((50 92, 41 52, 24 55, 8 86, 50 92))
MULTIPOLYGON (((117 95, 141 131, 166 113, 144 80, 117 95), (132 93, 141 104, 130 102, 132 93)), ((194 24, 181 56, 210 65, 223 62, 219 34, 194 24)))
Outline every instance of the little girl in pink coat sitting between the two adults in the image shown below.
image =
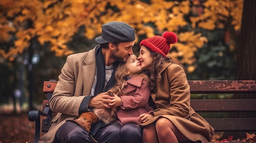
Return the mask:
POLYGON ((117 84, 110 89, 115 93, 109 106, 117 108, 117 118, 120 125, 128 123, 139 124, 140 114, 153 110, 149 106, 150 86, 146 73, 141 73, 141 64, 135 55, 127 58, 126 64, 121 64, 116 71, 117 84))

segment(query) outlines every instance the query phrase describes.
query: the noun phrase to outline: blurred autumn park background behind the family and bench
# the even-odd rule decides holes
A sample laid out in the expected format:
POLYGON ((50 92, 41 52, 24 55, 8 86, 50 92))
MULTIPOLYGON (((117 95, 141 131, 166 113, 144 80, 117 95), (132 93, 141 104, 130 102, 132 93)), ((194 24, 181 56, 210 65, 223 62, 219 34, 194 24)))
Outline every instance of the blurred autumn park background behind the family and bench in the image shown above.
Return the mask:
POLYGON ((141 40, 175 32, 169 55, 188 80, 256 80, 255 9, 255 0, 0 0, 0 143, 33 140, 27 113, 41 110, 43 81, 94 48, 109 21, 135 29, 136 55, 141 40))

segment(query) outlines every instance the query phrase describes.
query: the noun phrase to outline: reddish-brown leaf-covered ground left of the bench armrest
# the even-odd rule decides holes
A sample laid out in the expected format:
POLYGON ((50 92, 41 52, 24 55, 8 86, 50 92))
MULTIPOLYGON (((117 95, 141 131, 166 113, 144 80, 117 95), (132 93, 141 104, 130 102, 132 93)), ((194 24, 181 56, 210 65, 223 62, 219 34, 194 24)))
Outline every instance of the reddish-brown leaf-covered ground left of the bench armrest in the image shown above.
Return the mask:
POLYGON ((28 120, 28 112, 0 114, 0 143, 26 143, 34 140, 35 122, 28 120))

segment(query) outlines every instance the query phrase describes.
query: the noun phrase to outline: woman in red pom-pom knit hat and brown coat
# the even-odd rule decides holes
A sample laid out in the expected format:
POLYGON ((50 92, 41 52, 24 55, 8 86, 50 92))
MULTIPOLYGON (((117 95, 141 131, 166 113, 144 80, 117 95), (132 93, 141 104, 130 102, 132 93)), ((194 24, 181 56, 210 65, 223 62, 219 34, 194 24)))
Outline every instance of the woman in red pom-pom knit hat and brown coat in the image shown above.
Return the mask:
POLYGON ((169 53, 177 42, 173 32, 142 40, 138 59, 142 69, 150 70, 151 97, 155 110, 141 114, 143 143, 211 141, 214 129, 190 106, 190 89, 184 68, 169 53))

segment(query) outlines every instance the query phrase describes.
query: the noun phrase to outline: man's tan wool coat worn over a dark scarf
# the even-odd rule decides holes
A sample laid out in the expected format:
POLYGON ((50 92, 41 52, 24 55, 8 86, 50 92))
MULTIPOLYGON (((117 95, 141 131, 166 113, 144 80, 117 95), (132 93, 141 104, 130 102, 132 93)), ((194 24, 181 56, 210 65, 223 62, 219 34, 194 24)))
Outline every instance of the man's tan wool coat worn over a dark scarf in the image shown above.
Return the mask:
POLYGON ((67 62, 58 77, 58 84, 50 99, 53 112, 58 112, 52 119, 49 131, 43 135, 40 143, 52 143, 56 131, 66 120, 79 116, 79 107, 83 98, 90 95, 96 70, 95 48, 84 53, 67 57, 67 62))

